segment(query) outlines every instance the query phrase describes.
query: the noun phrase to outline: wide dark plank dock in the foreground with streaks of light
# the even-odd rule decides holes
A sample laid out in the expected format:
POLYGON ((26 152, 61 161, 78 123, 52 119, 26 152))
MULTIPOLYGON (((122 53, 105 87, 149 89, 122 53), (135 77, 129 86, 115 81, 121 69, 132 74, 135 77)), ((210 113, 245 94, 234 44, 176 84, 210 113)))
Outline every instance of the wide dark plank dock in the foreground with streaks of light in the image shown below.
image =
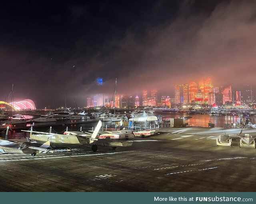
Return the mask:
MULTIPOLYGON (((226 129, 228 134, 239 129, 226 129)), ((216 146, 223 128, 162 128, 130 147, 0 154, 0 191, 251 192, 256 149, 216 146)), ((256 134, 256 131, 244 130, 256 134)))

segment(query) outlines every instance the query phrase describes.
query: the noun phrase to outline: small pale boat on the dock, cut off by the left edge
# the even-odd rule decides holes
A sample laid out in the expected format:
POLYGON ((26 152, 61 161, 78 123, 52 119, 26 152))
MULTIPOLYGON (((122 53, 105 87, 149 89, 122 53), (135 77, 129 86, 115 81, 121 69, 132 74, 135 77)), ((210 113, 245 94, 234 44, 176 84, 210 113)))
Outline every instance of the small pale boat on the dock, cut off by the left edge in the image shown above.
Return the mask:
POLYGON ((49 149, 50 141, 45 142, 42 146, 30 142, 14 142, 0 139, 0 152, 9 154, 30 154, 36 156, 37 153, 53 152, 49 149))

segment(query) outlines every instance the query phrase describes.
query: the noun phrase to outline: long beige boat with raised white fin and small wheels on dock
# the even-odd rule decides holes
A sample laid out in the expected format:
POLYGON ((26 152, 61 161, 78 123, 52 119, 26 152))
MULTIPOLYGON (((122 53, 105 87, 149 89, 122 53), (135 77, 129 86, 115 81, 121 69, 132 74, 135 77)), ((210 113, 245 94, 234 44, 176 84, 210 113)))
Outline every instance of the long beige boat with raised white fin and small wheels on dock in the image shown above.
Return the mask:
POLYGON ((36 141, 40 144, 50 141, 50 146, 52 148, 72 148, 78 145, 91 144, 92 151, 96 152, 98 146, 112 147, 112 149, 115 150, 117 146, 128 147, 132 145, 132 142, 116 141, 113 140, 110 136, 100 138, 98 136, 98 132, 101 126, 102 122, 99 121, 92 134, 89 132, 78 131, 66 131, 63 134, 37 132, 32 130, 22 131, 30 132, 31 141, 36 141))

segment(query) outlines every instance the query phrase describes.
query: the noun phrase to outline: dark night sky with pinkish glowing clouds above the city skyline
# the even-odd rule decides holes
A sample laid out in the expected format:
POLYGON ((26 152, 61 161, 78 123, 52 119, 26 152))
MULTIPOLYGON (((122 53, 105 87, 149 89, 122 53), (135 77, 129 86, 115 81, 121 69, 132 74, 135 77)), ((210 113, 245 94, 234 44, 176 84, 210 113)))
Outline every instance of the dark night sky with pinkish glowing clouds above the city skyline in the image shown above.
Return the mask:
POLYGON ((256 1, 1 1, 0 100, 37 108, 142 95, 204 77, 256 86, 256 1), (97 86, 96 78, 104 85, 97 86))

